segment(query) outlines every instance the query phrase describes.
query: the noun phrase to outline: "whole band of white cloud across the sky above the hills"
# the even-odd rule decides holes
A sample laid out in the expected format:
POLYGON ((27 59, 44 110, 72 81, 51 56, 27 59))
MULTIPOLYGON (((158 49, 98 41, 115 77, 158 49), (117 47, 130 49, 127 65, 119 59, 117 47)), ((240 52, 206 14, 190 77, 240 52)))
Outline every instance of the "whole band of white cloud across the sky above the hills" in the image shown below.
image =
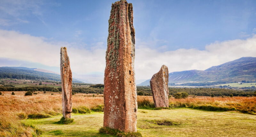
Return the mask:
MULTIPOLYGON (((0 30, 0 57, 60 65, 60 47, 67 47, 71 69, 75 73, 104 72, 106 47, 97 42, 90 50, 76 43, 51 41, 15 31, 0 30)), ((256 55, 256 35, 246 40, 227 40, 205 46, 205 50, 178 49, 161 52, 149 48, 150 43, 137 42, 135 51, 136 79, 148 79, 165 64, 169 72, 190 69, 204 70, 211 66, 256 55)))

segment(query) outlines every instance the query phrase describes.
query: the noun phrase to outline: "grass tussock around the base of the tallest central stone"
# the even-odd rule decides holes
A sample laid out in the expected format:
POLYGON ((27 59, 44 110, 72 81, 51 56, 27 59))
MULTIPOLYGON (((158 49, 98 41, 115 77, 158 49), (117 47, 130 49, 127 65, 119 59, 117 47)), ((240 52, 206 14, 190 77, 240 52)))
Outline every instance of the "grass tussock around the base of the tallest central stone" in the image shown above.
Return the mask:
POLYGON ((101 127, 99 131, 100 133, 116 135, 118 137, 142 137, 141 133, 139 132, 123 132, 109 127, 101 127))

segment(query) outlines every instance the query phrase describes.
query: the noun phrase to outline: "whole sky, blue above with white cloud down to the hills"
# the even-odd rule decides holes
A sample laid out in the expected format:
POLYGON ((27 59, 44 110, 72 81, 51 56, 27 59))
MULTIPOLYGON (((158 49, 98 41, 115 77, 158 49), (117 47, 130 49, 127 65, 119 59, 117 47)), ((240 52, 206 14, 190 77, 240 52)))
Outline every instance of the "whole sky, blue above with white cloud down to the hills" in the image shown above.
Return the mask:
MULTIPOLYGON (((138 80, 163 64, 169 72, 204 70, 256 57, 255 0, 127 1, 133 4, 138 80)), ((60 47, 67 47, 73 72, 103 74, 114 2, 1 0, 0 58, 59 67, 60 47)))

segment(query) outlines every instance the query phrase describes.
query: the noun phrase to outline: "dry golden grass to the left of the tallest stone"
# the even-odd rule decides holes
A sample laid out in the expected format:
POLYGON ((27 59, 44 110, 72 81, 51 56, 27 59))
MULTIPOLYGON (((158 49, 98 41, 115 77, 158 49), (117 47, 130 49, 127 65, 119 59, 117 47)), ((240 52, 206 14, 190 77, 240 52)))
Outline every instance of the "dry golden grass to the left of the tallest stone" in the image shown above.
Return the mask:
MULTIPOLYGON (((35 136, 33 135, 35 131, 31 127, 23 126, 18 121, 20 117, 27 118, 28 114, 34 113, 59 115, 62 112, 61 94, 56 92, 54 95, 47 92, 46 94, 39 93, 33 96, 24 96, 25 92, 23 91, 17 91, 15 95, 11 95, 11 92, 7 91, 3 94, 4 96, 0 96, 0 137, 35 136)), ((88 96, 92 95, 74 95, 72 98, 73 107, 85 106, 92 108, 103 105, 103 97, 88 96)))

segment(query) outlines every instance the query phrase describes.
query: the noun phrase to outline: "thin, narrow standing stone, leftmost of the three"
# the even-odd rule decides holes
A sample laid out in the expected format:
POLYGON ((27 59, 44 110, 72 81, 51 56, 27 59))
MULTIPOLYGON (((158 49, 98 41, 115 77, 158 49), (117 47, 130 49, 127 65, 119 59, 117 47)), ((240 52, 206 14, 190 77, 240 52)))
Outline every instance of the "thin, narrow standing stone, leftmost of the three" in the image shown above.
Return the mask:
POLYGON ((65 119, 71 117, 72 112, 72 72, 66 47, 60 48, 60 73, 62 89, 62 112, 65 119))

